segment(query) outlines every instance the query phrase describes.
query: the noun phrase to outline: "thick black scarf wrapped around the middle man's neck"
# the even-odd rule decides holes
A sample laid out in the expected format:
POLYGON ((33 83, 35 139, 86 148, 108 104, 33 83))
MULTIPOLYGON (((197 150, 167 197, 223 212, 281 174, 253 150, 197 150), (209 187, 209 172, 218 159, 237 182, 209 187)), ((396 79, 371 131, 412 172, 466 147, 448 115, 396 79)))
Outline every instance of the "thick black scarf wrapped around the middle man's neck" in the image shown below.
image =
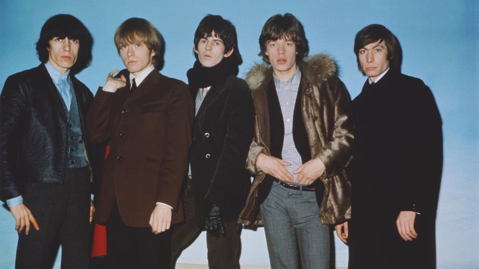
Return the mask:
POLYGON ((238 75, 238 65, 233 62, 233 57, 226 57, 213 67, 204 67, 196 60, 193 68, 188 70, 186 76, 192 88, 206 88, 218 81, 224 80, 229 75, 238 75))

